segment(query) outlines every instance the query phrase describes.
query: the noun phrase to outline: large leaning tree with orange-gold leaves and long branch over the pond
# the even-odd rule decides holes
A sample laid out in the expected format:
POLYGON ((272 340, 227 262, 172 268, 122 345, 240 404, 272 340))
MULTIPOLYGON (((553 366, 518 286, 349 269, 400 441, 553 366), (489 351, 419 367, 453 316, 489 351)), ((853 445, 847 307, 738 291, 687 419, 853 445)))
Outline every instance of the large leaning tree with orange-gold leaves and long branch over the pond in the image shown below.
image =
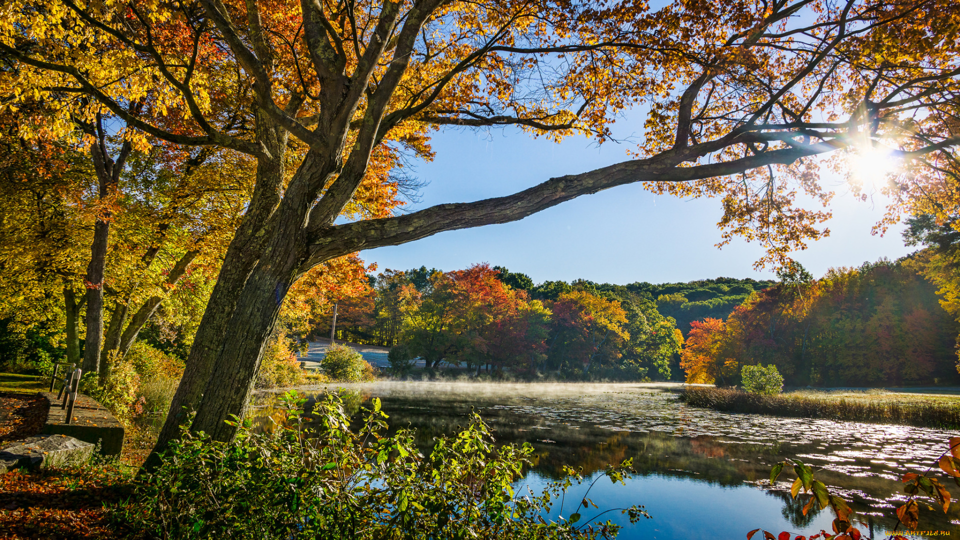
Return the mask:
POLYGON ((722 198, 725 236, 776 262, 826 233, 818 167, 879 152, 900 162, 876 187, 892 195, 889 219, 958 200, 952 0, 12 0, 0 15, 4 106, 52 110, 25 136, 86 133, 103 153, 108 125, 121 152, 255 160, 158 449, 183 407, 193 430, 232 436, 223 420, 244 414, 284 295, 331 258, 643 183, 722 198), (646 114, 628 160, 505 197, 338 220, 358 193, 396 187, 370 174, 376 152, 428 157, 438 127, 603 142, 627 109, 646 114), (818 208, 794 204, 798 191, 818 208))

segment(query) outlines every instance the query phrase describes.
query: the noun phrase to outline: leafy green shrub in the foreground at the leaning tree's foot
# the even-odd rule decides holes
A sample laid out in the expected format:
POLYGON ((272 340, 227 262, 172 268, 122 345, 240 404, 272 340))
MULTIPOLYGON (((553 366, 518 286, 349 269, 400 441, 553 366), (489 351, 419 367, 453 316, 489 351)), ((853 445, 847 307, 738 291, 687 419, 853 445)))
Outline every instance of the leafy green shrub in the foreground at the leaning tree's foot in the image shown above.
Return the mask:
MULTIPOLYGON (((301 415, 304 402, 291 391, 277 430, 254 433, 245 423, 229 443, 182 430, 156 472, 139 480, 127 518, 156 537, 183 540, 586 540, 613 538, 619 530, 579 513, 547 521, 566 488, 583 479, 567 469, 566 478, 539 495, 516 492, 533 448, 495 448, 477 415, 423 456, 412 431, 384 436, 387 415, 379 400, 364 409, 356 431, 338 396, 314 406, 313 429, 301 415)), ((628 460, 611 467, 607 476, 622 483, 629 466, 628 460)), ((621 511, 631 521, 646 515, 636 506, 621 511)))

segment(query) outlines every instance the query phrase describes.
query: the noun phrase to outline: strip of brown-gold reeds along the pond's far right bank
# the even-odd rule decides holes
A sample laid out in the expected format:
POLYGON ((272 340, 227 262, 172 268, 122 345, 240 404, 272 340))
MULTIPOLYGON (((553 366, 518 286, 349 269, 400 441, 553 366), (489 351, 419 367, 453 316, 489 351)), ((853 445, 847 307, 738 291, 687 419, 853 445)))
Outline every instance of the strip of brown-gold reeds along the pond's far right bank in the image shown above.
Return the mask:
POLYGON ((884 390, 800 390, 764 396, 728 388, 688 386, 681 393, 681 400, 687 405, 721 412, 960 429, 960 396, 884 390))

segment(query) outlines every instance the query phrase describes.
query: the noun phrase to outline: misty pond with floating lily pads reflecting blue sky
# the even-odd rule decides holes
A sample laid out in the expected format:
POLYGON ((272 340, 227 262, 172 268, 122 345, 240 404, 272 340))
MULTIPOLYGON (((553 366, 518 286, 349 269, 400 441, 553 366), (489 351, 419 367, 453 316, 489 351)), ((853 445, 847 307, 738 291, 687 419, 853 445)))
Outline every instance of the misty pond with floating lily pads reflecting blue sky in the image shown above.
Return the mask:
MULTIPOLYGON (((424 449, 433 438, 465 426, 476 411, 497 443, 528 442, 537 463, 518 486, 539 493, 564 465, 593 478, 608 464, 634 458, 627 485, 597 482, 590 499, 600 510, 642 504, 653 516, 630 525, 619 512, 604 515, 625 524, 619 538, 745 538, 754 528, 808 534, 830 530, 829 511, 804 516, 805 497, 793 501, 792 478, 769 486, 772 465, 796 457, 814 466, 831 493, 851 502, 854 522, 875 538, 896 523, 894 508, 906 497, 899 472, 923 472, 955 433, 903 426, 731 414, 680 403, 666 384, 374 382, 344 385, 352 410, 382 401, 393 427, 417 430, 424 449)), ((324 388, 301 389, 311 400, 324 388)), ((254 400, 254 422, 269 425, 275 395, 254 400)), ((578 502, 586 485, 566 498, 578 502)), ((960 495, 953 482, 948 490, 960 495)), ((566 507, 555 512, 568 515, 566 507)), ((583 512, 584 518, 592 514, 583 512)), ((960 530, 960 504, 921 511, 922 528, 960 530)), ((943 534, 943 533, 941 533, 943 534)))

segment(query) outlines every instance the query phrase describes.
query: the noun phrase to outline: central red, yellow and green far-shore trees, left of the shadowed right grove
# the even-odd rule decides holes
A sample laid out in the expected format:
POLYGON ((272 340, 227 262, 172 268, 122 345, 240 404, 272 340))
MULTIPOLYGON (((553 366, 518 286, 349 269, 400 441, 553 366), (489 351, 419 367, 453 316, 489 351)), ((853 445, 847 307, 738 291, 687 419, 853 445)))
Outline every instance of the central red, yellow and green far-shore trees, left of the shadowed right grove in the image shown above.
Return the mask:
MULTIPOLYGON (((775 283, 717 278, 538 284, 485 264, 453 272, 390 270, 368 280, 369 297, 341 306, 337 333, 344 339, 404 345, 430 367, 652 380, 685 379, 680 352, 691 322, 726 318, 775 283)), ((319 329, 329 331, 328 323, 319 329)))

